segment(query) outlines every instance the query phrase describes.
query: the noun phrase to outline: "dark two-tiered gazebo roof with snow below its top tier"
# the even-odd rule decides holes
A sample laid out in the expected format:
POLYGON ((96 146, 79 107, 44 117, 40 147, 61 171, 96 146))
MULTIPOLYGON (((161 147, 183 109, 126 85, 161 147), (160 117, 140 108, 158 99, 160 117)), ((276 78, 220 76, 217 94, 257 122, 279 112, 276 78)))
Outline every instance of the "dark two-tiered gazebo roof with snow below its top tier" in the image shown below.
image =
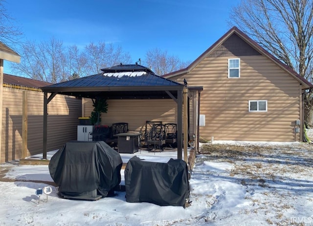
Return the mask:
POLYGON ((44 92, 107 99, 170 99, 184 85, 157 76, 138 64, 117 65, 101 69, 103 73, 42 87, 44 92))

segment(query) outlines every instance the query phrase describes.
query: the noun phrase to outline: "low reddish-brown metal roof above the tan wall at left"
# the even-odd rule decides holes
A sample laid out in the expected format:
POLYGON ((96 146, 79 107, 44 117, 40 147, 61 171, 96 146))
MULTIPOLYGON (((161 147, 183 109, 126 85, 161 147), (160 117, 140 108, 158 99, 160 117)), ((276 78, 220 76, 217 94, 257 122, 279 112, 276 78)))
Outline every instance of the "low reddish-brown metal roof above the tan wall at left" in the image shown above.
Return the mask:
POLYGON ((44 85, 52 84, 49 82, 43 82, 43 81, 28 79, 24 77, 15 76, 15 75, 9 75, 9 74, 3 74, 3 83, 10 84, 10 85, 31 87, 31 88, 40 88, 44 85))

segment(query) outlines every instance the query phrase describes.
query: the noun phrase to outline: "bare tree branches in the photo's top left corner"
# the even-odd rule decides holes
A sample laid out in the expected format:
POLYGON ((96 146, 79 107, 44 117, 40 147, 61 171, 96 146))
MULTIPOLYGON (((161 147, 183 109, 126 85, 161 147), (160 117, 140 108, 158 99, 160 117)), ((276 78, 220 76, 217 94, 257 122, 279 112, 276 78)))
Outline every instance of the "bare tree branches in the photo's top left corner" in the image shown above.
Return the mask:
POLYGON ((5 0, 0 0, 0 41, 7 45, 14 45, 22 37, 20 27, 5 9, 5 0))

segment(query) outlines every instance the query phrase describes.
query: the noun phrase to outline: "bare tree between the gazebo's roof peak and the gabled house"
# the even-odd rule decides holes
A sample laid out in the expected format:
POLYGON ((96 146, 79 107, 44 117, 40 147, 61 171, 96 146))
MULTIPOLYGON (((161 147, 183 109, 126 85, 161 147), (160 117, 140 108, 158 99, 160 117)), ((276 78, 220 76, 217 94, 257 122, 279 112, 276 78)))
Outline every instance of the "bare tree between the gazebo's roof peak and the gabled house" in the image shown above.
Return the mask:
POLYGON ((180 61, 178 56, 169 55, 159 48, 148 50, 143 62, 159 76, 185 68, 188 64, 180 61))

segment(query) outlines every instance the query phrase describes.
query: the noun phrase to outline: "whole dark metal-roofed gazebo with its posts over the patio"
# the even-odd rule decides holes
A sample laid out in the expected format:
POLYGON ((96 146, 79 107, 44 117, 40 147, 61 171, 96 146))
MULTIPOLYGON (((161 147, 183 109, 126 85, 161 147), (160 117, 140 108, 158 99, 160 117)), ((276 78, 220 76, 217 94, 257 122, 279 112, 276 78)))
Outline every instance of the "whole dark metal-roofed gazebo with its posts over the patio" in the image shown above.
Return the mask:
MULTIPOLYGON (((102 73, 99 74, 42 87, 44 91, 43 159, 46 159, 47 152, 47 105, 56 94, 110 100, 173 99, 177 103, 178 159, 182 159, 182 134, 186 136, 184 138, 184 148, 187 148, 188 145, 188 123, 183 123, 183 112, 184 115, 187 115, 186 110, 188 104, 184 104, 183 106, 183 100, 187 101, 188 89, 197 90, 200 95, 202 87, 187 87, 185 84, 162 78, 156 75, 151 69, 139 64, 120 64, 101 69, 101 71, 102 73), (48 93, 50 93, 49 96, 48 93), (183 131, 183 124, 186 130, 185 132, 183 131)), ((199 102, 194 107, 199 109, 199 106, 200 98, 199 102)), ((198 125, 198 114, 197 122, 198 125)))

